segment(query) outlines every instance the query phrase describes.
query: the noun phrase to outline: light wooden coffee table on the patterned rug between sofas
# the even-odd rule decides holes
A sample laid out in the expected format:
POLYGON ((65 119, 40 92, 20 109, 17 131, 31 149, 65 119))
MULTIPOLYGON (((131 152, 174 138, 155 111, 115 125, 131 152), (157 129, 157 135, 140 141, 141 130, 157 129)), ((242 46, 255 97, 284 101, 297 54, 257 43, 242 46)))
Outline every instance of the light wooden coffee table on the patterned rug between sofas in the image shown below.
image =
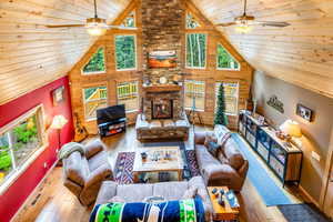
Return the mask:
POLYGON ((182 181, 183 160, 179 147, 141 148, 135 152, 133 175, 134 182, 139 182, 141 173, 149 172, 178 172, 178 180, 182 181), (141 153, 148 154, 143 160, 141 153), (169 158, 165 158, 169 153, 169 158))

